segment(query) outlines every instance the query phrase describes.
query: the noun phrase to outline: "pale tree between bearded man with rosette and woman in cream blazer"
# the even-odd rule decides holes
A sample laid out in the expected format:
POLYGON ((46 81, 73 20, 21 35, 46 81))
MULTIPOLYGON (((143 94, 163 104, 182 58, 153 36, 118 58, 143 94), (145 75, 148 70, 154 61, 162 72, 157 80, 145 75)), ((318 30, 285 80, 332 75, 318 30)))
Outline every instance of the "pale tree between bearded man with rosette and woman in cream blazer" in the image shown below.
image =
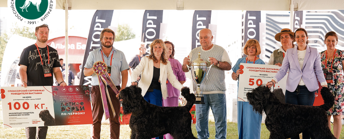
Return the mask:
POLYGON ((122 41, 135 38, 135 34, 128 24, 118 25, 115 41, 122 41))

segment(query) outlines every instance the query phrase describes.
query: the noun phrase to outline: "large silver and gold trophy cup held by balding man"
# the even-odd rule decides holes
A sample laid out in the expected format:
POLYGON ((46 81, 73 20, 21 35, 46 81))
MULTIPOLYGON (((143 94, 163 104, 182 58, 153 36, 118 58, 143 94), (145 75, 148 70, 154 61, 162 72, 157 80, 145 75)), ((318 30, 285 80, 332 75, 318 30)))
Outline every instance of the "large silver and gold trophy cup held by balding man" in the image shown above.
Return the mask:
MULTIPOLYGON (((209 58, 207 61, 210 62, 209 58)), ((207 65, 208 63, 201 59, 201 53, 198 53, 198 58, 191 62, 191 72, 189 69, 190 66, 187 65, 193 81, 195 81, 195 83, 197 84, 197 90, 195 91, 195 96, 196 96, 195 104, 205 104, 203 93, 201 91, 200 86, 204 78, 208 76, 209 70, 213 64, 211 64, 209 68, 207 65)))

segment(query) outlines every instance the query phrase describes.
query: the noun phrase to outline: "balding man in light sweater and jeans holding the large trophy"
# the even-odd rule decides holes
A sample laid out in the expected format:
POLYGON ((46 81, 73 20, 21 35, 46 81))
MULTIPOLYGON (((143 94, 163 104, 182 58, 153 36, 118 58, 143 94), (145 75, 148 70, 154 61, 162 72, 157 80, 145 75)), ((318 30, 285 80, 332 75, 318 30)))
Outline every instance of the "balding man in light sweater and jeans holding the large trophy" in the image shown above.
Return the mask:
POLYGON ((219 45, 212 44, 212 39, 211 31, 202 29, 200 31, 202 47, 193 49, 183 61, 183 71, 189 72, 191 70, 194 81, 193 90, 196 90, 196 103, 198 102, 196 104, 196 130, 198 138, 209 138, 209 108, 213 111, 215 119, 215 138, 226 138, 227 133, 224 71, 229 71, 232 63, 226 50, 219 45), (207 70, 207 65, 210 65, 209 69, 211 65, 216 67, 213 66, 211 70, 207 70), (190 66, 191 68, 189 68, 190 66))

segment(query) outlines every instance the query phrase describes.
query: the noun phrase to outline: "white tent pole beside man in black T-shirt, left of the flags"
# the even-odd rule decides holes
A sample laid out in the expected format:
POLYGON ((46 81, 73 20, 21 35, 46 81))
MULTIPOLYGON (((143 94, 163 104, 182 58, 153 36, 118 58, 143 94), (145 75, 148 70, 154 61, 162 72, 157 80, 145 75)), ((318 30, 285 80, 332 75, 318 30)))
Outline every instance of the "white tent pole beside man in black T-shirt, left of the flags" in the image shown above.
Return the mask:
POLYGON ((65 82, 66 84, 68 85, 68 74, 69 74, 69 68, 68 68, 68 64, 69 64, 69 61, 68 61, 68 0, 66 0, 66 4, 65 4, 65 31, 66 31, 66 34, 65 34, 65 43, 64 43, 64 46, 65 46, 65 50, 64 50, 64 54, 65 54, 65 57, 66 57, 66 62, 65 62, 65 82))

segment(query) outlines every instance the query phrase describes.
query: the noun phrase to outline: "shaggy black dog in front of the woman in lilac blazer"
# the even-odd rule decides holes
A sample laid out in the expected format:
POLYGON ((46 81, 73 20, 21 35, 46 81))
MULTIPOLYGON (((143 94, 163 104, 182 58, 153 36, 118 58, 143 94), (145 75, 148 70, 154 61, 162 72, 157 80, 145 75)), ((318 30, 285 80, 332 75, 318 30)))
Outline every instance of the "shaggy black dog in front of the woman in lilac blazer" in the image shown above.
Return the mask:
MULTIPOLYGON (((281 90, 280 90, 281 91, 281 90)), ((258 86, 246 94, 253 109, 266 113, 265 125, 271 138, 290 138, 308 131, 311 138, 333 138, 326 111, 334 105, 334 96, 329 88, 322 87, 321 106, 301 106, 281 103, 266 86, 258 86)))

